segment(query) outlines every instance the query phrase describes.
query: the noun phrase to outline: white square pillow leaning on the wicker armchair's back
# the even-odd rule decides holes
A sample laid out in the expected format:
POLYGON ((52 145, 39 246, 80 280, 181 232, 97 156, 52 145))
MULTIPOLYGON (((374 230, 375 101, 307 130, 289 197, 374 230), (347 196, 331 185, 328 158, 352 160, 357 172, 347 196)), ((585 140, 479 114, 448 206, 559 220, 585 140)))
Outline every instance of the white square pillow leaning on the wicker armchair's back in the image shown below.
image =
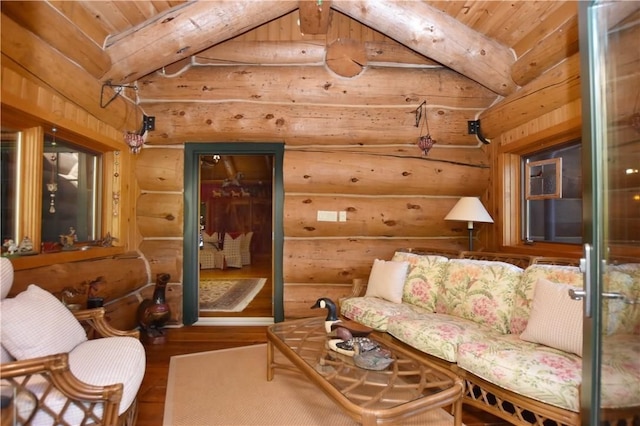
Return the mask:
POLYGON ((1 306, 2 345, 18 360, 70 352, 87 340, 71 311, 35 284, 1 306))

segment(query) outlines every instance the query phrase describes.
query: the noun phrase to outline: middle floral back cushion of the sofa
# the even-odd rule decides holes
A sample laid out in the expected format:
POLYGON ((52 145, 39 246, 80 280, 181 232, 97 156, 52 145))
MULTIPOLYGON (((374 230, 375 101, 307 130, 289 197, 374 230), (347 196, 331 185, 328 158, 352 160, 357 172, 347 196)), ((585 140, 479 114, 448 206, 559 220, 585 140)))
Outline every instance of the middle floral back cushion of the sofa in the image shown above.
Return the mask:
POLYGON ((450 259, 436 312, 455 315, 509 332, 522 268, 505 262, 450 259))

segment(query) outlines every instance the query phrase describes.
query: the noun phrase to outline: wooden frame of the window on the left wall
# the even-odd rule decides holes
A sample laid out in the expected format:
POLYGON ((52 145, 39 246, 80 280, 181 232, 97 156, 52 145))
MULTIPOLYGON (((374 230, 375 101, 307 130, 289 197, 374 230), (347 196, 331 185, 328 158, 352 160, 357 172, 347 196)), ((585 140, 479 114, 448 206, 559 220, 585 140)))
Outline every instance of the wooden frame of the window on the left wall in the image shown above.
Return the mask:
MULTIPOLYGON (((121 192, 123 188, 123 171, 128 160, 126 146, 118 146, 102 135, 87 131, 74 131, 57 124, 39 120, 29 114, 2 104, 2 125, 22 133, 22 148, 18 151, 18 176, 20 191, 17 195, 18 235, 14 238, 19 243, 28 236, 38 254, 33 256, 14 256, 11 262, 15 270, 30 269, 57 263, 95 259, 124 253, 127 239, 124 235, 124 208, 112 194, 121 192), (45 129, 57 129, 56 137, 85 147, 102 155, 102 188, 101 188, 101 223, 100 237, 109 232, 118 241, 112 247, 92 246, 89 250, 61 251, 54 253, 41 252, 42 227, 42 162, 44 152, 45 129), (84 134, 83 134, 84 133, 84 134), (115 175, 118 175, 117 178, 115 175), (115 214, 114 214, 115 213, 115 214)), ((79 244, 82 245, 82 244, 79 244)))

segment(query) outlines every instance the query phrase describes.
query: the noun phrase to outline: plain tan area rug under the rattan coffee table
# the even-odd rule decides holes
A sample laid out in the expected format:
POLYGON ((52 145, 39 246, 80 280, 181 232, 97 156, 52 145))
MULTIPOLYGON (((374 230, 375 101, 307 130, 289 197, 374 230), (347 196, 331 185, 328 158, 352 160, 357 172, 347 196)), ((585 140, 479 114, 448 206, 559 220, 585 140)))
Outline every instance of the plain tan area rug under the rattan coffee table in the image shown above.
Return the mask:
MULTIPOLYGON (((268 382, 266 360, 266 344, 171 357, 163 425, 358 424, 302 373, 276 369, 268 382)), ((450 426, 453 417, 435 409, 399 424, 450 426)))

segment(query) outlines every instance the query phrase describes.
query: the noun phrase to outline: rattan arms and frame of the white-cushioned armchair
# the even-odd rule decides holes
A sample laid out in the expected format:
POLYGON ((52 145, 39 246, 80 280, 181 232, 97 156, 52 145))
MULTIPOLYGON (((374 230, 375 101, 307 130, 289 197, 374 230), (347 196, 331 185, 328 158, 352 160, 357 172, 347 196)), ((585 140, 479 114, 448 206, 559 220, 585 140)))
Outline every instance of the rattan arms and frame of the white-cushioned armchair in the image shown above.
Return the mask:
MULTIPOLYGON (((104 308, 85 309, 73 312, 87 331, 90 339, 130 336, 139 338, 138 330, 118 330, 111 326, 105 318, 104 308)), ((121 383, 107 386, 93 386, 78 380, 69 368, 69 355, 66 353, 12 361, 2 364, 0 378, 11 383, 17 392, 28 391, 28 383, 35 378, 45 378, 47 389, 37 399, 37 409, 49 412, 55 418, 55 411, 47 406, 47 396, 52 389, 57 389, 68 398, 68 404, 73 404, 82 410, 84 418, 81 424, 96 424, 104 426, 133 426, 138 417, 137 398, 129 408, 118 415, 120 400, 123 394, 121 383), (102 416, 96 416, 94 408, 102 404, 102 416)), ((20 415, 20 414, 18 414, 20 415)), ((29 418, 18 418, 19 424, 29 424, 29 418)), ((60 425, 65 425, 59 419, 60 425)))

